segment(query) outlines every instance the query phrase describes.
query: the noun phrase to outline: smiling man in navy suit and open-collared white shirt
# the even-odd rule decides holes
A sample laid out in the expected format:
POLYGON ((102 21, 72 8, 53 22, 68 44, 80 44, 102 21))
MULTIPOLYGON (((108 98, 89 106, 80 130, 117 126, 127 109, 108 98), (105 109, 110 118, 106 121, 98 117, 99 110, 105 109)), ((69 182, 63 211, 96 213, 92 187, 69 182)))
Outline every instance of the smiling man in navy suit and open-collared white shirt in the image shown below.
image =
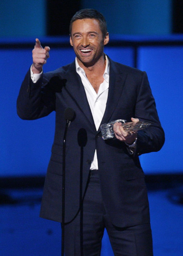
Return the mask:
POLYGON ((76 12, 70 22, 75 61, 43 74, 50 49, 36 39, 17 113, 37 119, 56 112, 40 216, 61 222, 64 112, 68 107, 75 111, 66 145, 65 255, 100 255, 106 228, 115 255, 151 256, 149 205, 138 156, 160 150, 164 132, 145 72, 113 62, 103 52, 108 41, 101 13, 76 12), (151 126, 137 133, 116 123, 115 139, 102 140, 99 126, 116 119, 151 126), (82 164, 78 137, 85 141, 82 164))

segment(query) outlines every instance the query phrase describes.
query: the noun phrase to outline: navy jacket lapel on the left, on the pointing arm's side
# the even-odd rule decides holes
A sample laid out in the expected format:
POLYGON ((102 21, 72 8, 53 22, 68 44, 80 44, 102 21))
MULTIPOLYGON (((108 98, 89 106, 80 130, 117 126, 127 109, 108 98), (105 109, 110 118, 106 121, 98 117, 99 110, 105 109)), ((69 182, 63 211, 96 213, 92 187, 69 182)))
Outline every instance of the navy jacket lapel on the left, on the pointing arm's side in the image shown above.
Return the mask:
POLYGON ((85 114, 88 121, 94 126, 95 123, 92 117, 92 112, 86 97, 84 86, 81 82, 79 74, 75 70, 75 62, 71 63, 70 68, 66 72, 67 85, 66 90, 70 93, 70 96, 76 102, 81 111, 85 114))

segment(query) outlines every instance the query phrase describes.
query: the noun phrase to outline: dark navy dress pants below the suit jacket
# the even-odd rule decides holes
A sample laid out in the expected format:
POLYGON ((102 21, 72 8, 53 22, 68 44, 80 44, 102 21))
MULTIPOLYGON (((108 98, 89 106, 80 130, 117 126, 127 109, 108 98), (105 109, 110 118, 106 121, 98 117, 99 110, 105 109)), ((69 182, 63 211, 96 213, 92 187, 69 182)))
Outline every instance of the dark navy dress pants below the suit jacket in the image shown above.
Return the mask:
POLYGON ((100 256, 104 228, 115 256, 153 256, 150 223, 115 227, 102 202, 98 171, 91 171, 81 211, 65 225, 65 256, 100 256))

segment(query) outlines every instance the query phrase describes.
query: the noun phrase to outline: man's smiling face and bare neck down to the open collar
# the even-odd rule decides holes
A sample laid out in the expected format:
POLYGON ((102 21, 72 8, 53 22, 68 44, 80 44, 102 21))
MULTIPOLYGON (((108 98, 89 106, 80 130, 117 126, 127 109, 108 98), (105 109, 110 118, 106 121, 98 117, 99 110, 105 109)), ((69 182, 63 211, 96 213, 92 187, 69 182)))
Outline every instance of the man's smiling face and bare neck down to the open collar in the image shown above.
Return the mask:
POLYGON ((109 41, 108 32, 102 34, 96 19, 78 19, 72 23, 70 45, 77 62, 84 69, 87 79, 98 92, 106 67, 103 48, 109 41))

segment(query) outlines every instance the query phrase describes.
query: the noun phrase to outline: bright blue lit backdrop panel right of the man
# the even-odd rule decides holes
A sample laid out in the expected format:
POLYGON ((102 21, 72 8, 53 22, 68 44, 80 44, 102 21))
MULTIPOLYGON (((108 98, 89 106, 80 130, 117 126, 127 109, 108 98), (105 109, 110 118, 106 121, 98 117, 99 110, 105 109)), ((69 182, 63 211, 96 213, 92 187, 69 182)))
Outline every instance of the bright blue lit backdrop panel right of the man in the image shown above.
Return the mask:
POLYGON ((158 153, 142 155, 147 172, 183 172, 183 46, 140 47, 138 68, 148 74, 166 141, 158 153))

